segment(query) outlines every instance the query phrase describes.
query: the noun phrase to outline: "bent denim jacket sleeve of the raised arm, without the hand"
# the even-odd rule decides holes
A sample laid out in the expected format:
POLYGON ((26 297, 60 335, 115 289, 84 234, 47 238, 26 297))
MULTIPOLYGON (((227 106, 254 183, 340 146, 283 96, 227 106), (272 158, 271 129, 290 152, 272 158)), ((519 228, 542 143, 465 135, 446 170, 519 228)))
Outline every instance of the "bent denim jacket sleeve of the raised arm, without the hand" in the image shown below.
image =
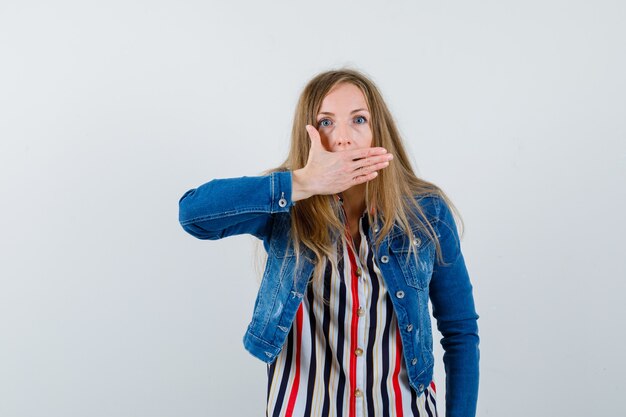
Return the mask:
POLYGON ((178 221, 198 239, 251 234, 264 240, 272 214, 288 212, 291 171, 258 177, 214 179, 187 191, 178 202, 178 221))

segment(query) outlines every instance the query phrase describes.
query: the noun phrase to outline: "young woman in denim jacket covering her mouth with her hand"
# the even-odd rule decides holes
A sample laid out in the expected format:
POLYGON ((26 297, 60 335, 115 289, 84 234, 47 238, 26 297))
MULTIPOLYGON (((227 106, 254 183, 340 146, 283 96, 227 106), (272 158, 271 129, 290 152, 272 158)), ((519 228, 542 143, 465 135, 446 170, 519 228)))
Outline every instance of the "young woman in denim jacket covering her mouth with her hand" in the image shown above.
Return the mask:
POLYGON ((313 78, 286 161, 180 199, 199 239, 249 233, 268 257, 244 336, 267 362, 268 416, 436 416, 428 301, 443 338, 446 416, 474 416, 479 337, 452 216, 418 178, 376 86, 313 78))

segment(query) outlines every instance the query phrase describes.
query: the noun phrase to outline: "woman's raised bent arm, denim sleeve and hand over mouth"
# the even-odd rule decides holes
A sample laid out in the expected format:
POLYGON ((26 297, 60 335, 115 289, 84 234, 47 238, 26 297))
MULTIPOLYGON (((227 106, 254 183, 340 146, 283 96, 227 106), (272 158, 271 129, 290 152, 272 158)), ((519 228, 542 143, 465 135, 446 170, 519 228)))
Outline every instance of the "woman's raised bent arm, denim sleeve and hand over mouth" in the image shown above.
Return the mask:
POLYGON ((272 214, 288 212, 298 200, 334 194, 374 179, 393 158, 384 148, 328 152, 319 132, 307 125, 307 165, 260 177, 224 178, 187 191, 179 200, 179 221, 198 239, 249 233, 264 239, 272 214))

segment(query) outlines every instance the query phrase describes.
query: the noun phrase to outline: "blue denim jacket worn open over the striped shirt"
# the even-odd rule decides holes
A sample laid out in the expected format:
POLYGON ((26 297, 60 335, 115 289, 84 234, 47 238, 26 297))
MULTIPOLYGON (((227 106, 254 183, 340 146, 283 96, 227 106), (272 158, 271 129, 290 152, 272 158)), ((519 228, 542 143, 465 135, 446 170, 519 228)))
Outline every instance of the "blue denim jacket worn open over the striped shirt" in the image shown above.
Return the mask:
MULTIPOLYGON (((314 268, 312 253, 305 251, 298 271, 294 269, 295 253, 288 245, 290 208, 295 204, 291 186, 290 171, 214 179, 187 191, 179 201, 180 224, 198 239, 248 233, 263 241, 268 259, 243 343, 268 363, 285 343, 314 268)), ((410 237, 394 226, 374 248, 375 257, 393 302, 411 386, 421 395, 433 377, 430 298, 443 335, 446 416, 474 416, 479 337, 472 285, 448 206, 437 196, 416 198, 435 228, 447 265, 436 261, 434 243, 417 226, 410 237), (411 256, 407 263, 409 245, 417 246, 417 262, 411 256)), ((370 242, 380 228, 370 228, 370 242)))

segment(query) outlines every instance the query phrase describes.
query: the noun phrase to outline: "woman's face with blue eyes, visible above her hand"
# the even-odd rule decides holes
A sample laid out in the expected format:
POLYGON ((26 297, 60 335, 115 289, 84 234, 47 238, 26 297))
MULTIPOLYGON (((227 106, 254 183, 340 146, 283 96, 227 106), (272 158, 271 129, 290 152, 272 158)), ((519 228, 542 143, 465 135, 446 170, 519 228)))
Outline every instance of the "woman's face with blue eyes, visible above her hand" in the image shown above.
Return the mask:
POLYGON ((369 109, 365 96, 354 84, 341 83, 330 90, 317 114, 316 127, 327 151, 372 146, 369 109))

